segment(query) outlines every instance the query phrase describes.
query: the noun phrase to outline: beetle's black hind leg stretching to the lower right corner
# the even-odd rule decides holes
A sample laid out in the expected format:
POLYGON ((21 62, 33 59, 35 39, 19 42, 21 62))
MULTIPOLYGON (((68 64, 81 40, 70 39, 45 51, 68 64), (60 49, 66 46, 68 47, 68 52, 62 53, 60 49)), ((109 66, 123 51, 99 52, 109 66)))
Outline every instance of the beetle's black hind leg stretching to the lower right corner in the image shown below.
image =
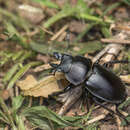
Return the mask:
POLYGON ((116 112, 114 112, 113 110, 107 108, 105 105, 103 105, 102 103, 100 103, 96 97, 93 97, 93 100, 95 101, 96 104, 98 104, 99 106, 103 107, 104 109, 106 109, 106 110, 109 111, 110 113, 115 114, 115 115, 121 117, 122 119, 124 119, 125 122, 127 123, 127 125, 129 125, 129 122, 125 119, 125 116, 122 115, 122 114, 119 112, 117 106, 116 106, 116 112))

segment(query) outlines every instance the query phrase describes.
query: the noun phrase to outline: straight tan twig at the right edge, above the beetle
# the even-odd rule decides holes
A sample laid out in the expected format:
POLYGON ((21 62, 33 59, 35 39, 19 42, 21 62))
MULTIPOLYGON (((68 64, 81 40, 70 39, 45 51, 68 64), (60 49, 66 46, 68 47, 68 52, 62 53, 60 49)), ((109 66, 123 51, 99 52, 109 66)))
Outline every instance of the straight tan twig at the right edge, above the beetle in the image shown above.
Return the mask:
POLYGON ((123 39, 107 39, 107 38, 102 38, 101 42, 104 43, 119 43, 119 44, 130 44, 130 40, 123 40, 123 39))

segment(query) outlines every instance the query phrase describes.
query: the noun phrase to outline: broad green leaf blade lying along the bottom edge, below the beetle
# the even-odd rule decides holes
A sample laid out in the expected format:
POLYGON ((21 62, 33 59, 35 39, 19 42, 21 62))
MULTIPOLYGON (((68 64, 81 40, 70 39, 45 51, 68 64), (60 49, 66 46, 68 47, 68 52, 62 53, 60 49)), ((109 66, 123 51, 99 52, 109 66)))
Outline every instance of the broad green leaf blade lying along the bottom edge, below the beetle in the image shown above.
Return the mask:
POLYGON ((71 122, 65 120, 62 116, 57 115, 55 112, 49 110, 45 106, 27 108, 23 111, 22 114, 27 119, 33 119, 33 117, 35 116, 35 119, 40 118, 45 121, 45 118, 46 118, 46 120, 52 121, 53 123, 55 123, 57 126, 60 126, 60 127, 78 126, 78 125, 80 126, 80 124, 74 124, 74 122, 71 123, 71 122))

